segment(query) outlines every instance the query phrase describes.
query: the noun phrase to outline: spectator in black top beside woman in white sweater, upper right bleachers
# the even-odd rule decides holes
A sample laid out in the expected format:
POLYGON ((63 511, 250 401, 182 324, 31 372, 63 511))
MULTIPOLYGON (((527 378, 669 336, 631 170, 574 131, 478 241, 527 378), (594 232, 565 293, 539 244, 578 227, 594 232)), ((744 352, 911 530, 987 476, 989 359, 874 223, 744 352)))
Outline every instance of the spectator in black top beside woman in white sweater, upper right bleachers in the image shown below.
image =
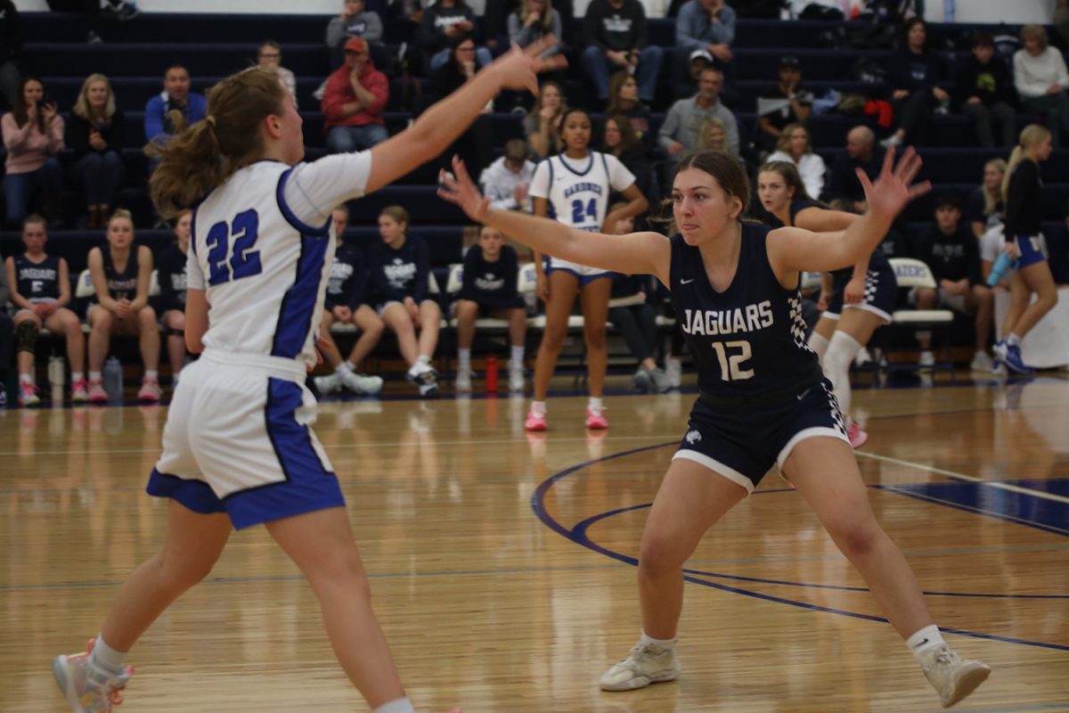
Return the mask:
POLYGON ((1013 79, 1001 57, 995 57, 995 41, 988 32, 973 34, 973 52, 961 60, 955 92, 961 110, 976 122, 980 145, 995 145, 992 120, 1002 129, 1003 146, 1017 141, 1017 110, 1013 108, 1013 79))

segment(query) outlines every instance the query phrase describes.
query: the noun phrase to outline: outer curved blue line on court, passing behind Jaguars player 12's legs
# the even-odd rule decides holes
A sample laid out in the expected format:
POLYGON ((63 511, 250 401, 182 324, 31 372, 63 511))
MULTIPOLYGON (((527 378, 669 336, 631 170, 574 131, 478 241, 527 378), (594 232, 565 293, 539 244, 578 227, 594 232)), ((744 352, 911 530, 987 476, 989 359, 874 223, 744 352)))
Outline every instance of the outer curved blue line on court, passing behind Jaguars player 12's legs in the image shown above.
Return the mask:
MULTIPOLYGON (((624 458, 624 456, 630 456, 630 455, 634 455, 636 453, 641 453, 641 452, 645 452, 645 451, 648 451, 648 450, 652 450, 652 449, 655 449, 655 448, 665 448, 666 446, 672 446, 672 445, 676 445, 676 441, 660 444, 660 445, 655 445, 655 446, 646 446, 646 447, 642 447, 642 448, 636 448, 636 449, 632 449, 632 450, 621 451, 619 453, 614 453, 611 455, 607 455, 607 456, 602 458, 602 459, 594 459, 592 461, 586 461, 584 463, 579 463, 577 465, 573 465, 573 466, 571 466, 569 468, 566 468, 566 469, 563 469, 563 470, 561 470, 561 471, 559 471, 557 474, 554 474, 549 478, 547 478, 544 481, 542 481, 541 483, 539 483, 538 487, 534 490, 534 493, 531 495, 531 510, 534 512, 534 515, 542 522, 542 524, 544 524, 546 527, 548 527, 549 529, 554 530, 555 532, 559 533, 561 537, 563 537, 563 538, 566 538, 566 539, 574 542, 575 544, 578 544, 578 545, 580 545, 583 547, 586 547, 587 549, 590 549, 592 552, 597 552, 597 553, 599 553, 601 555, 604 555, 605 557, 608 557, 610 559, 615 559, 615 560, 624 562, 626 564, 631 564, 632 567, 637 567, 638 565, 638 560, 636 558, 630 557, 628 555, 623 555, 621 553, 614 552, 611 549, 607 549, 607 548, 603 547, 603 546, 599 545, 598 543, 593 542, 592 540, 590 540, 587 537, 585 528, 583 530, 579 529, 579 525, 582 525, 583 523, 587 523, 588 521, 590 521, 592 518, 587 518, 586 521, 583 521, 583 523, 580 523, 579 525, 577 525, 573 529, 568 529, 563 525, 561 525, 559 522, 557 522, 557 520, 554 518, 548 513, 548 511, 545 508, 545 496, 548 494, 549 490, 557 483, 557 481, 559 481, 559 480, 561 480, 563 478, 567 478, 567 477, 569 477, 569 476, 571 476, 571 475, 573 475, 573 474, 575 474, 575 472, 577 472, 579 470, 588 468, 589 466, 591 466, 591 465, 593 465, 595 463, 604 463, 606 461, 610 461, 610 460, 615 460, 615 459, 619 459, 619 458, 624 458)), ((890 489, 887 489, 887 490, 890 490, 890 489)), ((892 492, 894 492, 894 491, 892 491, 892 492)), ((646 506, 633 506, 633 507, 630 507, 630 508, 622 508, 622 509, 618 509, 616 511, 613 511, 611 514, 619 514, 621 512, 626 512, 629 510, 638 509, 640 507, 646 507, 646 506)), ((594 515, 593 520, 597 520, 599 517, 600 517, 599 515, 594 515)), ((753 598, 753 599, 764 600, 764 601, 773 602, 773 603, 776 603, 776 604, 786 604, 786 605, 789 605, 789 606, 794 606, 794 607, 799 607, 799 608, 803 608, 803 609, 809 609, 811 611, 822 611, 822 613, 825 613, 825 614, 836 614, 836 615, 839 615, 839 616, 851 617, 851 618, 854 618, 854 619, 863 619, 863 620, 866 620, 866 621, 876 621, 876 622, 881 622, 881 623, 888 623, 887 620, 885 618, 883 618, 883 617, 877 617, 877 616, 867 615, 867 614, 859 614, 859 613, 856 613, 856 611, 848 611, 846 609, 837 609, 837 608, 833 608, 833 607, 820 606, 820 605, 817 605, 817 604, 809 604, 809 603, 806 603, 806 602, 797 602, 797 601, 794 601, 794 600, 784 599, 784 598, 780 598, 780 596, 773 596, 771 594, 763 594, 763 593, 750 591, 750 590, 747 590, 747 589, 740 589, 738 587, 731 587, 731 586, 719 584, 719 583, 716 583, 716 582, 710 582, 708 579, 702 579, 701 577, 695 576, 693 574, 684 574, 683 575, 683 579, 685 582, 690 582, 690 583, 696 584, 696 585, 701 585, 703 587, 709 587, 711 589, 718 589, 718 590, 722 590, 722 591, 731 592, 733 594, 742 594, 743 596, 749 596, 749 598, 753 598)), ((959 629, 944 629, 943 631, 951 633, 951 634, 959 634, 961 636, 970 636, 970 637, 973 637, 973 638, 981 638, 981 639, 988 639, 988 640, 994 640, 994 641, 1003 641, 1003 642, 1006 642, 1006 644, 1019 644, 1019 645, 1023 645, 1023 646, 1032 646, 1032 647, 1037 647, 1037 648, 1042 648, 1042 649, 1054 649, 1054 650, 1057 650, 1057 651, 1069 651, 1069 646, 1060 645, 1060 644, 1048 644, 1045 641, 1032 641, 1032 640, 1027 640, 1027 639, 1018 639, 1018 638, 1013 638, 1013 637, 1000 636, 997 634, 981 634, 979 632, 971 632, 971 631, 959 630, 959 629)))

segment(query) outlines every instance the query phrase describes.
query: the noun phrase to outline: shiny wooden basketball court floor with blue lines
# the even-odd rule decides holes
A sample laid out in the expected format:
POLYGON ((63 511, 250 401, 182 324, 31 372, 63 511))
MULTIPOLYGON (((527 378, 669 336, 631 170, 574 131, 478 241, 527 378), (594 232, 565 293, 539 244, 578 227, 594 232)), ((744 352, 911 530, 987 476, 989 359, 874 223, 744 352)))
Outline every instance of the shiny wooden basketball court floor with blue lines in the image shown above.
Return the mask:
MULTIPOLYGON (((622 392, 623 382, 614 382, 622 392)), ((1069 382, 855 391, 858 462, 948 641, 993 667, 958 710, 1069 711, 1069 382)), ((941 710, 903 642, 775 474, 688 563, 675 683, 598 689, 639 632, 634 557, 693 393, 322 404, 375 608, 420 711, 941 710)), ((65 711, 56 653, 154 552, 166 407, 0 413, 0 710, 65 711)), ((314 596, 263 528, 130 656, 123 713, 363 710, 314 596)))

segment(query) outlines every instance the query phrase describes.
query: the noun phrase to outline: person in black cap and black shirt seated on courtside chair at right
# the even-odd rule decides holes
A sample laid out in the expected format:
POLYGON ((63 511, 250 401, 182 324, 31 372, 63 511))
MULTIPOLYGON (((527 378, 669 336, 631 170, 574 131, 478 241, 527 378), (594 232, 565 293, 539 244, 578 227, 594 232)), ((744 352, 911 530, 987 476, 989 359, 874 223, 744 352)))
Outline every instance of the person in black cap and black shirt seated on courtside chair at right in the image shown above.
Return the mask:
MULTIPOLYGON (((910 301, 917 309, 946 307, 975 317, 976 345, 973 371, 991 371, 988 354, 991 329, 994 326, 994 294, 980 274, 979 243, 962 222, 961 199, 942 196, 935 201, 935 224, 926 228, 916 238, 913 257, 931 268, 936 289, 916 288, 910 301)), ((931 353, 931 335, 919 334, 920 363, 935 363, 931 353)))

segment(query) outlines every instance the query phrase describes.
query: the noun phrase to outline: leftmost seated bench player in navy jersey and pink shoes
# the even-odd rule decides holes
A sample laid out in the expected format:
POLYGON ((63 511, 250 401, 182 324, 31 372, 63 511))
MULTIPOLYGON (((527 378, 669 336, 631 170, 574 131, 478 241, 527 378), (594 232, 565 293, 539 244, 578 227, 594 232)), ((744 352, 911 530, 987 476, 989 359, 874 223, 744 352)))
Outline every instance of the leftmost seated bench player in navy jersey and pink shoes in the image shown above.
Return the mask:
MULTIPOLYGON (((45 219, 32 215, 22 221, 26 252, 5 261, 4 273, 11 284, 11 301, 16 310, 14 324, 18 400, 24 406, 33 406, 41 401, 33 383, 33 372, 34 345, 42 329, 62 335, 66 340, 72 401, 84 401, 88 398, 86 337, 81 334, 81 320, 69 309, 71 280, 67 263, 63 258, 45 252, 47 242, 45 219)), ((3 301, 6 301, 6 296, 3 301)))

